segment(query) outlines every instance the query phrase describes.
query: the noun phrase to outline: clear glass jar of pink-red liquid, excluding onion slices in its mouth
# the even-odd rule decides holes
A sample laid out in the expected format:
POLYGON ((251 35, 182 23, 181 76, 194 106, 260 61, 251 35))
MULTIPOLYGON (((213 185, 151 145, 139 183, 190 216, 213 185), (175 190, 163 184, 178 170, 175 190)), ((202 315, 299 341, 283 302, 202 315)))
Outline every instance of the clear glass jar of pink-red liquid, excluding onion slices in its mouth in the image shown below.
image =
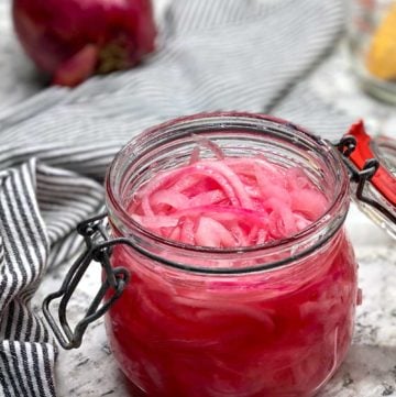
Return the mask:
POLYGON ((142 396, 305 397, 329 381, 351 343, 358 286, 343 228, 349 176, 328 142, 257 114, 178 119, 131 141, 106 189, 113 236, 140 246, 113 249, 112 266, 128 268, 131 282, 106 323, 142 396), (188 162, 197 135, 227 156, 263 153, 302 167, 328 211, 293 238, 243 249, 197 247, 142 229, 128 213, 131 198, 160 170, 188 162))

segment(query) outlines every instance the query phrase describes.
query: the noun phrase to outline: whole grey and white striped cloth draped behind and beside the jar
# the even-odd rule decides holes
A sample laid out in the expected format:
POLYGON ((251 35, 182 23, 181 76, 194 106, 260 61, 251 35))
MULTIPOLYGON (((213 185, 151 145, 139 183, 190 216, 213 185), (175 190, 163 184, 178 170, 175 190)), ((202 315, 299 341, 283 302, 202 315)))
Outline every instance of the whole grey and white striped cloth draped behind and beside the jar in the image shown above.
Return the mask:
POLYGON ((160 121, 213 110, 341 132, 348 118, 307 79, 343 14, 342 0, 175 0, 144 66, 0 111, 0 396, 56 395, 56 348, 31 298, 78 250, 73 230, 102 205, 100 181, 120 146, 160 121))

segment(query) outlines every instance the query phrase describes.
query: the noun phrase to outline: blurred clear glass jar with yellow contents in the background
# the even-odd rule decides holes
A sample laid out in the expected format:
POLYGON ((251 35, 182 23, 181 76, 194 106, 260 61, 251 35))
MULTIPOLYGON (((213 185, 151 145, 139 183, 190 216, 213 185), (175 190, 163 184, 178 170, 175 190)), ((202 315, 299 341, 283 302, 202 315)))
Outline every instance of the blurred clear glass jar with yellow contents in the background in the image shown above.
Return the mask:
POLYGON ((362 87, 396 103, 396 1, 352 0, 348 42, 362 87))

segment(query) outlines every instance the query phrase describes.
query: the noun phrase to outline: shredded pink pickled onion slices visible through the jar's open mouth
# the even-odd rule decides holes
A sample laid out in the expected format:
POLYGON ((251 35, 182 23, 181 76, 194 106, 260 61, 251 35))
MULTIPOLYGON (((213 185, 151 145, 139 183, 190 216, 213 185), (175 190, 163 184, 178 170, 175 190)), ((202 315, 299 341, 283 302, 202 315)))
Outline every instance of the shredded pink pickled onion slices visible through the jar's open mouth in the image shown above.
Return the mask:
POLYGON ((289 238, 329 206, 302 168, 284 168, 263 156, 199 159, 197 153, 136 191, 132 219, 185 244, 238 247, 289 238))

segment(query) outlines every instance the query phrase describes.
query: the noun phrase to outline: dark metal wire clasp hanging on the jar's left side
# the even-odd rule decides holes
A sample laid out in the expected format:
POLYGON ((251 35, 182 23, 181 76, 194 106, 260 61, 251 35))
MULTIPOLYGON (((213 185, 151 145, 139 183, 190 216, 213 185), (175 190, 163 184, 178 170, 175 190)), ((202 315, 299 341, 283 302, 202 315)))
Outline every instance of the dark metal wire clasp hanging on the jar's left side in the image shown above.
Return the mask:
POLYGON ((106 217, 107 213, 102 213, 81 222, 77 227, 77 232, 84 236, 86 250, 68 271, 59 290, 48 295, 43 302, 44 317, 52 328, 57 341, 62 348, 66 350, 80 346, 82 335, 87 327, 109 310, 111 305, 121 296, 130 279, 130 274, 125 268, 111 267, 111 247, 117 244, 118 241, 109 240, 103 224, 103 219, 106 217), (106 278, 103 279, 102 285, 100 286, 84 318, 77 323, 75 330, 73 331, 67 321, 67 305, 87 267, 92 261, 101 264, 106 278), (110 298, 100 306, 101 300, 108 293, 111 294, 110 298), (58 307, 58 324, 54 316, 51 313, 50 306, 53 300, 59 298, 62 299, 58 307))

